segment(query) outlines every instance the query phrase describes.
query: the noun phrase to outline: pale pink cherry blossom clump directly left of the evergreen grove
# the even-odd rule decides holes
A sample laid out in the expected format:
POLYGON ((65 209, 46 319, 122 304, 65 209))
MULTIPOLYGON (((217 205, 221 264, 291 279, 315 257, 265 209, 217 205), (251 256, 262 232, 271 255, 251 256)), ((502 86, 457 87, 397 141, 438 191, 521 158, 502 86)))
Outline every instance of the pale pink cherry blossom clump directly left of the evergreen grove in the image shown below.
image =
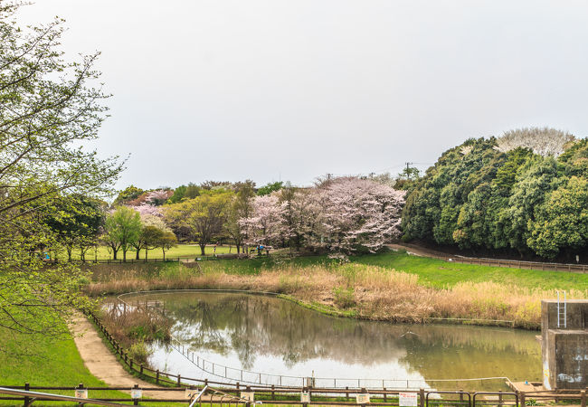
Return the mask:
POLYGON ((357 177, 331 178, 315 188, 258 196, 240 221, 252 244, 290 241, 297 249, 378 251, 400 236, 404 192, 357 177))

